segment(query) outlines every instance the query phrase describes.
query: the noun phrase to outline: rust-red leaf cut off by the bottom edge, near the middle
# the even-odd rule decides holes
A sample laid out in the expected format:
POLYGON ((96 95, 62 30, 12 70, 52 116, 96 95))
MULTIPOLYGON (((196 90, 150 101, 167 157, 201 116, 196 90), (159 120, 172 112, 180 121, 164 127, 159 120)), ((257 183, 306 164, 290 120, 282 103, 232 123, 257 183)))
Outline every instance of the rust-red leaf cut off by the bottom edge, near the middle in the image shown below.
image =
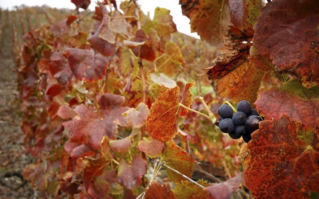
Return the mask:
POLYGON ((149 188, 145 189, 145 199, 177 199, 172 192, 169 183, 160 184, 153 181, 149 188))

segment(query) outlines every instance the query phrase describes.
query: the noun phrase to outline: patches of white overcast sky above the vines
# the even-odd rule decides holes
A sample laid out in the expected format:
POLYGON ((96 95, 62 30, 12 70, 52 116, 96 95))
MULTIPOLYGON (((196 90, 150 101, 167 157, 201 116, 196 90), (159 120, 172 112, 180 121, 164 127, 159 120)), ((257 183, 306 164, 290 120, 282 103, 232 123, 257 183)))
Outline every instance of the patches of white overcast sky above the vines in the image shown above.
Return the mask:
MULTIPOLYGON (((138 0, 137 2, 141 5, 141 9, 145 14, 150 12, 151 18, 154 16, 154 10, 156 7, 167 8, 171 11, 173 21, 179 32, 183 32, 199 39, 196 32, 190 32, 189 19, 182 15, 181 5, 178 4, 179 0, 138 0)), ((9 8, 9 10, 11 10, 15 5, 21 4, 25 4, 27 6, 42 6, 43 4, 46 4, 53 8, 75 8, 75 5, 72 4, 70 0, 0 0, 0 7, 4 9, 9 8)), ((91 0, 89 9, 94 10, 95 5, 94 0, 91 0)))

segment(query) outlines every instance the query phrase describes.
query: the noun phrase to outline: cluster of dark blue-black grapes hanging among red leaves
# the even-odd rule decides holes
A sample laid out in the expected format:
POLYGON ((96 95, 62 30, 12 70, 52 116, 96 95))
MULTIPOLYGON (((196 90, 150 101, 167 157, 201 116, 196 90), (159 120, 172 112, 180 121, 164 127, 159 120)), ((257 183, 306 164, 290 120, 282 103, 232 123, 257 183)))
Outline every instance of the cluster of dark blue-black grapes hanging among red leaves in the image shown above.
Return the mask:
POLYGON ((246 143, 251 140, 251 133, 259 129, 259 122, 263 119, 256 109, 251 109, 248 101, 242 100, 237 104, 237 112, 227 104, 218 108, 219 130, 228 133, 232 139, 239 139, 241 136, 246 143))

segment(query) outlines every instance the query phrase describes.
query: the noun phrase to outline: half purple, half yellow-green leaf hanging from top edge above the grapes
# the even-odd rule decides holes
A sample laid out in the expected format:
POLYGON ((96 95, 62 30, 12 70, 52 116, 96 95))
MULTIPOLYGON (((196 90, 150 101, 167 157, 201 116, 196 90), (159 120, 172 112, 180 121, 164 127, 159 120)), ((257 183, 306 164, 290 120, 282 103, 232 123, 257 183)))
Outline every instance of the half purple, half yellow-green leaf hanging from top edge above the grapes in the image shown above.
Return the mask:
POLYGON ((252 29, 257 22, 262 0, 228 0, 230 20, 240 30, 252 29))

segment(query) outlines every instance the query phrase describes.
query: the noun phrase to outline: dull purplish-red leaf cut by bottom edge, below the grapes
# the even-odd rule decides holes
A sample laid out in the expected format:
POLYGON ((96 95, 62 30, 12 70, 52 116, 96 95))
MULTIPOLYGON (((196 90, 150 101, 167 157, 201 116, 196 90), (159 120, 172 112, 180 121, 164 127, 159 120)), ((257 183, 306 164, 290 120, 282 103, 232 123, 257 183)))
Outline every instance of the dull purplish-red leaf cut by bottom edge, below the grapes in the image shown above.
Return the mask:
POLYGON ((229 199, 233 191, 245 184, 244 174, 241 173, 225 182, 211 184, 205 189, 209 192, 211 199, 229 199))

